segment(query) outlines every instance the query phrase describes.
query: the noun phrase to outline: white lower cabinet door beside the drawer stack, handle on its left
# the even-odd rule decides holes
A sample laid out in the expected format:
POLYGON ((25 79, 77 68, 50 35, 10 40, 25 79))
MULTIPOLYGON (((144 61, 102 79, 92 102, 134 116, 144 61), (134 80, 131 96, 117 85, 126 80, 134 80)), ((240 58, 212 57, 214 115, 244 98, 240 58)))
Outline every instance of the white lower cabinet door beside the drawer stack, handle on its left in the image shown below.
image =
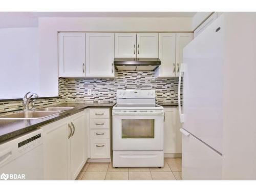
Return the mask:
POLYGON ((82 169, 86 159, 84 154, 84 147, 86 147, 86 120, 84 119, 84 112, 80 112, 71 116, 70 124, 72 126, 71 134, 71 179, 74 180, 80 170, 82 169))

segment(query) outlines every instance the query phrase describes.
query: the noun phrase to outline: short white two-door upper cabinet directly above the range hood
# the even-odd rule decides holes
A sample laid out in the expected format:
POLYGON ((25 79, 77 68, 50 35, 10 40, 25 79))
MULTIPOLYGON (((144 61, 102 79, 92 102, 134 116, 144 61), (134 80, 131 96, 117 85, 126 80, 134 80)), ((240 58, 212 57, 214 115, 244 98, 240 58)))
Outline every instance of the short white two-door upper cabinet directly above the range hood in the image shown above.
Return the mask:
POLYGON ((158 33, 115 33, 116 58, 158 58, 158 33))

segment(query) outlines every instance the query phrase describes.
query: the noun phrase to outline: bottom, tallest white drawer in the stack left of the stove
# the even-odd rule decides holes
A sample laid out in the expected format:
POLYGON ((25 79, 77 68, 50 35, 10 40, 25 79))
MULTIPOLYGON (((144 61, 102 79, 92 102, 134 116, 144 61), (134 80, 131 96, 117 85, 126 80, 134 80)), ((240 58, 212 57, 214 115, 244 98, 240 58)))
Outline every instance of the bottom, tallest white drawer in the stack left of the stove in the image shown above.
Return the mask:
POLYGON ((91 159, 109 159, 110 140, 91 139, 91 159))

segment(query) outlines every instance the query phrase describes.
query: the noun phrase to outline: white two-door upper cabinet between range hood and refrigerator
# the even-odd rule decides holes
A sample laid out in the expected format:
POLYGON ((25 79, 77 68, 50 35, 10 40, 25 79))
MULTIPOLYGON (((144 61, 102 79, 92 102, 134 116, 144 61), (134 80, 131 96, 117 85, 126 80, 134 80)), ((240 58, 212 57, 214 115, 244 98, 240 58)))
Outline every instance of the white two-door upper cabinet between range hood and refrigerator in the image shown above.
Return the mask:
POLYGON ((183 61, 183 49, 193 39, 193 33, 159 33, 159 58, 161 65, 156 78, 178 77, 183 61))

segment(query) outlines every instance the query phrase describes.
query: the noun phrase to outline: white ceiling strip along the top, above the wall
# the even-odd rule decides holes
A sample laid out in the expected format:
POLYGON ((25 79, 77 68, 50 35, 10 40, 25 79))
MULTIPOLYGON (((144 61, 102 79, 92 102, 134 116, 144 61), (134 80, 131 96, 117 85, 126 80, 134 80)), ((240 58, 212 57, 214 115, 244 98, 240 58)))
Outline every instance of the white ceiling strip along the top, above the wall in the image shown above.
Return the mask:
POLYGON ((0 28, 37 27, 38 17, 193 17, 196 12, 0 12, 0 28))

